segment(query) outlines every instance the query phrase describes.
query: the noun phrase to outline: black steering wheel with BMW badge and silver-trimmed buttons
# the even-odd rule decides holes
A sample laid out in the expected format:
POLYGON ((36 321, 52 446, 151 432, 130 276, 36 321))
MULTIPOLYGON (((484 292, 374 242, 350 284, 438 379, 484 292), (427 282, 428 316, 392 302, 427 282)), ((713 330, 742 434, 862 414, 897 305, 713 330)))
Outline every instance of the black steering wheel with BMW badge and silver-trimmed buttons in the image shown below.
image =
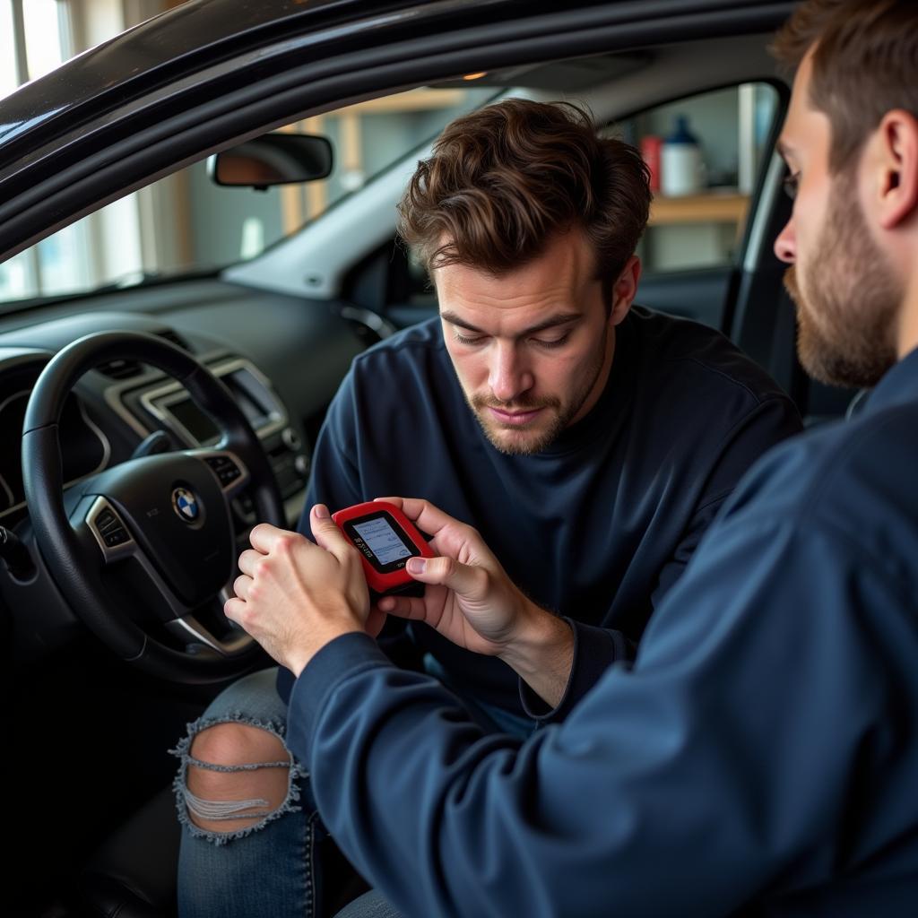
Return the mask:
POLYGON ((50 576, 123 660, 186 683, 216 682, 252 668, 263 653, 259 644, 218 610, 236 571, 229 501, 246 488, 257 519, 276 526, 286 525, 284 504, 258 437, 206 367, 150 334, 105 332, 74 341, 32 390, 22 471, 35 541, 50 576), (64 402, 87 370, 125 358, 177 379, 216 422, 221 439, 211 448, 131 459, 64 493, 64 402), (198 613, 216 615, 229 634, 218 637, 198 613), (156 633, 171 634, 176 647, 156 633))

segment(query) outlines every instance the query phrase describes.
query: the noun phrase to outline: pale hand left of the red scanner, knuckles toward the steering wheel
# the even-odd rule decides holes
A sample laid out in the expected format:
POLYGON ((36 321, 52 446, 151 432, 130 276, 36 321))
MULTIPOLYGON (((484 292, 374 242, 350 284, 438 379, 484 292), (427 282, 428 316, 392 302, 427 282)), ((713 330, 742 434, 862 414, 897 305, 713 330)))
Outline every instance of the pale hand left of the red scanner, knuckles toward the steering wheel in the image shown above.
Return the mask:
POLYGON ((316 544, 297 532, 262 523, 240 555, 241 577, 224 611, 282 666, 299 676, 325 644, 348 632, 378 632, 358 551, 317 504, 309 514, 316 544))

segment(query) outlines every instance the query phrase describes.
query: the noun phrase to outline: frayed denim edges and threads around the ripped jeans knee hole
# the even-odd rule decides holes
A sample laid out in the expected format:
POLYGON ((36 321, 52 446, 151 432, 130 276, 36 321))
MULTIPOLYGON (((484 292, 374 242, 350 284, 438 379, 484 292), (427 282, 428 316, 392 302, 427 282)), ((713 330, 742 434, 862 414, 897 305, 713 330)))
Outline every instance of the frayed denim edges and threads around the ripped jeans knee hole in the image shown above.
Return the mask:
MULTIPOLYGON (((173 781, 175 792, 175 808, 178 812, 178 819, 189 834, 196 838, 202 838, 214 845, 226 845, 235 838, 244 838, 246 835, 258 832, 265 825, 280 819, 285 813, 300 812, 302 807, 298 805, 300 799, 299 780, 306 778, 306 772, 299 765, 294 756, 287 748, 284 738, 285 727, 283 724, 259 721, 257 719, 246 717, 241 713, 229 714, 223 717, 200 717, 195 722, 188 724, 187 734, 179 740, 174 749, 168 750, 179 760, 178 772, 173 781), (197 749, 192 749, 196 737, 210 727, 217 726, 221 723, 240 723, 252 727, 259 727, 268 733, 274 734, 284 748, 285 758, 274 761, 251 762, 238 765, 227 765, 221 762, 211 762, 205 759, 197 758, 194 753, 197 749), (188 768, 198 767, 209 771, 218 772, 242 772, 258 768, 285 768, 287 771, 286 794, 283 802, 274 809, 268 809, 270 806, 267 800, 204 800, 188 789, 188 768), (228 832, 216 832, 211 829, 203 828, 196 825, 190 818, 190 813, 207 819, 208 821, 220 820, 239 820, 252 819, 259 817, 256 822, 242 826, 228 832)), ((224 756, 208 756, 224 757, 224 756)))

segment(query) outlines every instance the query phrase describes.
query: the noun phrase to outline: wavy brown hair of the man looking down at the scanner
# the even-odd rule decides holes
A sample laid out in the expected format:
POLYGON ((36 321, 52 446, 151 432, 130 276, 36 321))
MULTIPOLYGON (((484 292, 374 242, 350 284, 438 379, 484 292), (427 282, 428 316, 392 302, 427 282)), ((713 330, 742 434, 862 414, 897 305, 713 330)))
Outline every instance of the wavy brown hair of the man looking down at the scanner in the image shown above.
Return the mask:
POLYGON ((610 287, 644 232, 650 198, 641 154, 599 138, 585 109, 505 99, 442 132, 398 205, 398 231, 429 272, 460 263, 499 276, 554 234, 581 228, 610 287))

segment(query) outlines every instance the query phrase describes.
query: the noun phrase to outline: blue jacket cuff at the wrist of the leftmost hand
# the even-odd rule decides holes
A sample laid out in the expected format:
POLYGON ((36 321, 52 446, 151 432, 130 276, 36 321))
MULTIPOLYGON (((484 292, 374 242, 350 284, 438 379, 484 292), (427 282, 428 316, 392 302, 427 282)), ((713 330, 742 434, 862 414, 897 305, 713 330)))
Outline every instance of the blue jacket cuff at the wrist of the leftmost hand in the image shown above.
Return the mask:
POLYGON ((303 667, 290 692, 287 741, 300 761, 308 761, 312 734, 330 693, 357 669, 392 666, 375 640, 363 632, 341 634, 303 667))

